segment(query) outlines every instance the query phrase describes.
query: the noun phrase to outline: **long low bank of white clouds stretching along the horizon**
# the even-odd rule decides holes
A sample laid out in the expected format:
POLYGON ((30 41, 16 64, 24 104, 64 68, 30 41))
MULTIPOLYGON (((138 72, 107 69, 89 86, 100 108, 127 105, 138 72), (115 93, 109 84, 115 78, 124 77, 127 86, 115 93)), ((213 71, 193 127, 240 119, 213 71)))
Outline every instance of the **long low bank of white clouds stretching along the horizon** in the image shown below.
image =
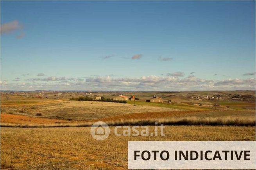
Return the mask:
POLYGON ((25 82, 2 83, 6 90, 105 90, 105 91, 183 91, 183 90, 254 90, 255 78, 248 79, 201 79, 189 75, 143 76, 140 78, 113 78, 110 76, 32 78, 25 82))

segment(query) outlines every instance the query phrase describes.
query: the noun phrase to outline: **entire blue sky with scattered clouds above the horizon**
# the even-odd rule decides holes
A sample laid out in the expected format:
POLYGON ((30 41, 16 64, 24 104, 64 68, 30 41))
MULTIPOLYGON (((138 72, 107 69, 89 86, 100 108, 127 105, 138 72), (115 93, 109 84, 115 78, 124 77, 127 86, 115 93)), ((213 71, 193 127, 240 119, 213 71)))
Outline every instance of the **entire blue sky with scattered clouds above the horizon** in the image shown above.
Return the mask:
POLYGON ((2 90, 255 90, 255 1, 1 1, 2 90))

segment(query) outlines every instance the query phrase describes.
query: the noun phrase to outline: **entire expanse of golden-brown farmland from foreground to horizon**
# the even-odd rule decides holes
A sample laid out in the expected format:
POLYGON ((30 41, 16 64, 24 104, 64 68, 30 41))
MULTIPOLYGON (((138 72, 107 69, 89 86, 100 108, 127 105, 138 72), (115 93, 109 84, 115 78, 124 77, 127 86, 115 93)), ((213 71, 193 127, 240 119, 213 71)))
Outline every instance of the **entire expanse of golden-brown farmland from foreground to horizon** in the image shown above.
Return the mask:
POLYGON ((127 103, 69 100, 116 95, 1 92, 1 167, 120 170, 127 169, 127 141, 255 141, 255 91, 136 92, 138 100, 127 103), (156 93, 172 103, 146 102, 156 93), (220 97, 212 100, 216 93, 220 97), (91 137, 96 121, 111 126, 106 140, 91 137), (165 124, 164 137, 113 133, 116 125, 150 125, 153 131, 155 121, 165 124))

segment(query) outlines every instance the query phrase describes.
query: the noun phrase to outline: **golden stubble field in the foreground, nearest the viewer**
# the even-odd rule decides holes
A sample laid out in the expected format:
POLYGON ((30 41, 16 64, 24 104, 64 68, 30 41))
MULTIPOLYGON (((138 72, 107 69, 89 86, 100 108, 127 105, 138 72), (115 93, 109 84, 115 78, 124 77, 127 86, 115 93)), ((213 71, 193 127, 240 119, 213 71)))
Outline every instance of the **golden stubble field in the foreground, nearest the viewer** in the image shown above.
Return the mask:
MULTIPOLYGON (((255 126, 166 126, 165 137, 91 137, 90 128, 1 128, 2 169, 127 169, 127 141, 254 141, 255 126)), ((150 126, 149 132, 154 128, 150 126)))

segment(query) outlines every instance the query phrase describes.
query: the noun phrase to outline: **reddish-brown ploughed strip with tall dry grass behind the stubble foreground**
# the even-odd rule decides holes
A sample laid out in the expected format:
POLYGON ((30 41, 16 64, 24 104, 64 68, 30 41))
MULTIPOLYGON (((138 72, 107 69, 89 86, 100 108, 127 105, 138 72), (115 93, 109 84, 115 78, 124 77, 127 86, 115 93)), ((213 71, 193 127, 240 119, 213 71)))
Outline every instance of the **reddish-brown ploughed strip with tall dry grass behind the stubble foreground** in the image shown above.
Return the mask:
POLYGON ((161 122, 169 125, 238 125, 254 126, 254 110, 222 110, 222 111, 169 111, 169 112, 142 112, 109 116, 101 119, 91 119, 88 121, 49 119, 42 117, 31 117, 13 114, 1 114, 1 126, 4 127, 84 127, 91 126, 96 121, 104 121, 109 126, 119 124, 151 125, 154 122, 161 122))

